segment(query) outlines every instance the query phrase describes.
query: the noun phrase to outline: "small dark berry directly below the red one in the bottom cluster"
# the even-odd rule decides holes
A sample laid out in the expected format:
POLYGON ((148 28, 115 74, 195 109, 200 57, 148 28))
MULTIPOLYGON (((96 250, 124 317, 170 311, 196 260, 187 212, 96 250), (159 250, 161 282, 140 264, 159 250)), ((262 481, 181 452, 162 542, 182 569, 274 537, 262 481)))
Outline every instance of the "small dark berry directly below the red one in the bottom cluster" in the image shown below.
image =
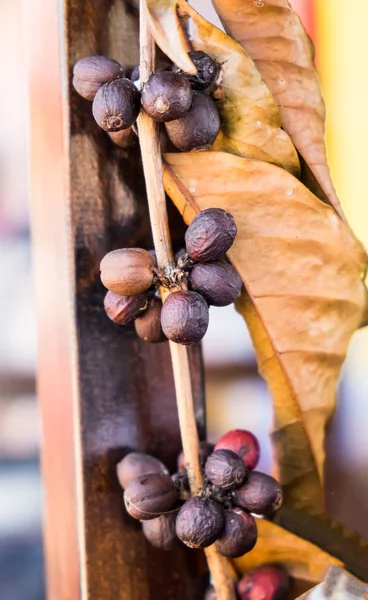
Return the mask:
POLYGON ((231 450, 215 450, 206 461, 206 477, 219 488, 231 489, 240 485, 246 472, 242 459, 231 450))

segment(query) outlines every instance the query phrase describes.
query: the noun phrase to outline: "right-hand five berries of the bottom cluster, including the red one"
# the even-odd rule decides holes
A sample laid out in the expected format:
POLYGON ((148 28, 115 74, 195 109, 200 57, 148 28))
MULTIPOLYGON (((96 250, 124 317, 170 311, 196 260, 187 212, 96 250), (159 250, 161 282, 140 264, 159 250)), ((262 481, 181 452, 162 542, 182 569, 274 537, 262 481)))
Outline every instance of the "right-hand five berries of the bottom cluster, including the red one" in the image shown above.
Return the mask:
POLYGON ((203 493, 186 500, 176 518, 182 542, 191 548, 216 542, 218 552, 229 558, 252 550, 257 527, 251 513, 270 515, 282 501, 278 482, 253 471, 258 458, 258 441, 248 431, 230 431, 219 439, 204 462, 203 493))

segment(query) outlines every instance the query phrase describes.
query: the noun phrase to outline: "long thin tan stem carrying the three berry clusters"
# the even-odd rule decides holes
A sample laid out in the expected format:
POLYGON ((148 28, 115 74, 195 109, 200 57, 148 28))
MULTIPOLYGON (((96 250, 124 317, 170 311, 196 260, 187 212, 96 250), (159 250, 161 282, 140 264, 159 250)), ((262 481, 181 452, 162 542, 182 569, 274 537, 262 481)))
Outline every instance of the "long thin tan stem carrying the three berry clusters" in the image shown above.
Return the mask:
MULTIPOLYGON (((146 10, 145 0, 140 0, 140 81, 142 84, 154 71, 155 63, 155 45, 149 30, 146 10)), ((138 132, 157 264, 165 273, 170 270, 174 261, 162 180, 159 126, 143 110, 138 117, 138 132)), ((161 288, 162 300, 170 293, 167 288, 161 288)), ((203 487, 203 475, 199 463, 199 440, 188 350, 185 346, 174 342, 169 344, 183 451, 191 492, 195 495, 203 487)), ((215 545, 206 548, 205 553, 217 600, 235 600, 234 584, 227 560, 217 552, 215 545)))

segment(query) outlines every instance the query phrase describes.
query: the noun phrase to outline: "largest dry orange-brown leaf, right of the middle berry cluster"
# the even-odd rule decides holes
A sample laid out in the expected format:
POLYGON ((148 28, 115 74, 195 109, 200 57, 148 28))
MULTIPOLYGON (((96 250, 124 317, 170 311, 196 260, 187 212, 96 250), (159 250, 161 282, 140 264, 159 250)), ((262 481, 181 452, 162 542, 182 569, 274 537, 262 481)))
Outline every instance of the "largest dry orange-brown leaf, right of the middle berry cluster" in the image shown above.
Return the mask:
POLYGON ((321 511, 325 426, 365 305, 364 249, 330 206, 283 169, 215 152, 166 161, 175 176, 166 172, 166 191, 187 223, 209 207, 235 218, 229 258, 247 290, 239 310, 273 395, 286 503, 321 511))

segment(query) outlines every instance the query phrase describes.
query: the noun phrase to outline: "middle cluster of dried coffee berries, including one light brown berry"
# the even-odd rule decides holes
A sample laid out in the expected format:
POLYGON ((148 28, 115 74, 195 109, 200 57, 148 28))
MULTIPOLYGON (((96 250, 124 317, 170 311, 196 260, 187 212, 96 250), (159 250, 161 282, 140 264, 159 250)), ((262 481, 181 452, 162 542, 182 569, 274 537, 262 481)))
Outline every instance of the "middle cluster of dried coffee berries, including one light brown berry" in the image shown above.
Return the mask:
POLYGON ((101 262, 101 281, 109 290, 107 315, 120 325, 135 321, 137 334, 149 342, 199 342, 207 331, 209 305, 227 306, 240 294, 241 278, 224 257, 235 235, 233 217, 209 208, 189 225, 186 248, 169 272, 159 271, 153 251, 109 252, 101 262), (163 305, 158 296, 161 285, 180 288, 163 305))

